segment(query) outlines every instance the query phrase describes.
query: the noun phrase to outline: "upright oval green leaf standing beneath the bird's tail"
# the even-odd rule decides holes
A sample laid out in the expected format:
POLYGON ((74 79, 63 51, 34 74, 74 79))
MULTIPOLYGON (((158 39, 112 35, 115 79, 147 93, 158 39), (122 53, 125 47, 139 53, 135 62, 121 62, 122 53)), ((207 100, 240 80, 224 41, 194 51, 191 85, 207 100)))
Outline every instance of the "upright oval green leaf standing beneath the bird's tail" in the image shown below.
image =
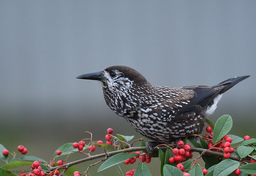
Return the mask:
POLYGON ((212 142, 216 144, 223 138, 232 128, 233 121, 230 115, 223 115, 215 123, 213 130, 212 142))

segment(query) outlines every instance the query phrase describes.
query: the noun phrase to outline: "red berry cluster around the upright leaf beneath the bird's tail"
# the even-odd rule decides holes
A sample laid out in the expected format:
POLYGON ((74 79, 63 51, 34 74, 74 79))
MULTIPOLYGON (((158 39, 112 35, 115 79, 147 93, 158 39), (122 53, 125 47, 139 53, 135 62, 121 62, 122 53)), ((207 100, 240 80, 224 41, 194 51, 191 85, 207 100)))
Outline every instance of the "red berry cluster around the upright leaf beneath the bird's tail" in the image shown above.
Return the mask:
POLYGON ((232 143, 232 138, 228 137, 227 135, 225 135, 222 139, 220 139, 219 143, 215 144, 215 146, 213 145, 212 142, 212 128, 210 126, 206 127, 206 131, 209 132, 208 135, 205 135, 205 139, 211 139, 208 140, 208 148, 210 150, 215 150, 215 151, 219 151, 219 152, 223 152, 224 151, 224 158, 229 158, 230 154, 232 154, 234 152, 234 148, 230 147, 231 143, 232 143), (225 142, 226 141, 226 142, 225 142), (213 148, 215 147, 215 148, 213 148))

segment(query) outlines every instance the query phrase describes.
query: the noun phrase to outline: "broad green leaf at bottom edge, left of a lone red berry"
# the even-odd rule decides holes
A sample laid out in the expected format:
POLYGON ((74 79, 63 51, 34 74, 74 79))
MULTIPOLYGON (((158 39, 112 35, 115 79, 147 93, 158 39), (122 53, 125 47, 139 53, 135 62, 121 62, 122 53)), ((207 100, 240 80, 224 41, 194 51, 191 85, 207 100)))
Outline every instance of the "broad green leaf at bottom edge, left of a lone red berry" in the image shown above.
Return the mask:
MULTIPOLYGON (((216 125, 215 125, 216 128, 216 125)), ((234 161, 231 159, 225 159, 216 165, 213 176, 227 176, 234 172, 240 165, 239 161, 234 161)))

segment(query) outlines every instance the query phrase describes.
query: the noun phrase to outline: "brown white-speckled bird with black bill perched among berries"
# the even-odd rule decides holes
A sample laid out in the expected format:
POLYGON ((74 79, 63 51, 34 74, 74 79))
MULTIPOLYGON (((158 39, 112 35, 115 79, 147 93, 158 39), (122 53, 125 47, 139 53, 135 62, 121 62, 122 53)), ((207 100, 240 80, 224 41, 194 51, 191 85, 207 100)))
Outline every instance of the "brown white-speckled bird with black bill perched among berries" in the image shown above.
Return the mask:
POLYGON ((100 81, 107 105, 142 136, 156 143, 173 143, 201 134, 223 93, 247 76, 227 79, 214 86, 174 88, 153 86, 137 70, 110 66, 85 73, 78 79, 100 81))

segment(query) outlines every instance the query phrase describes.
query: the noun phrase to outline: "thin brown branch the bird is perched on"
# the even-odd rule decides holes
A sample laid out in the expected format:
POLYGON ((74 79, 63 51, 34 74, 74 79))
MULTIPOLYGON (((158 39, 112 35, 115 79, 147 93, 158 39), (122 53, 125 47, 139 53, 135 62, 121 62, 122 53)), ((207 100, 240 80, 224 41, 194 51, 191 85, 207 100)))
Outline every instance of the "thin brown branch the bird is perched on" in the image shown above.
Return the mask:
MULTIPOLYGON (((165 150, 167 147, 159 147, 159 148, 165 150)), ((115 154, 127 153, 127 152, 133 152, 133 151, 140 151, 140 150, 146 150, 146 147, 131 147, 131 148, 128 148, 128 149, 111 151, 111 152, 108 152, 107 154, 105 154, 105 153, 103 153, 103 154, 96 154, 96 155, 89 156, 87 158, 83 158, 83 159, 80 159, 80 160, 77 160, 77 161, 69 162, 69 163, 67 163, 65 165, 51 167, 49 170, 53 171, 53 170, 58 169, 60 167, 62 167, 62 168, 66 167, 66 169, 67 169, 67 168, 71 167, 72 165, 77 165, 77 164, 85 162, 85 161, 90 161, 90 160, 94 160, 94 159, 97 159, 97 158, 103 158, 103 157, 104 158, 106 158, 106 157, 108 158, 108 157, 111 157, 111 156, 113 156, 115 154)), ((213 150, 207 150, 206 151, 206 150, 207 149, 191 147, 191 151, 195 151, 195 152, 199 152, 199 153, 205 152, 204 154, 211 154, 211 155, 220 156, 220 157, 223 157, 223 155, 224 155, 224 153, 222 153, 222 152, 213 151, 213 150)), ((241 159, 240 157, 238 157, 236 155, 233 155, 233 154, 230 154, 230 159, 235 160, 235 161, 245 161, 245 162, 249 162, 250 163, 250 160, 248 160, 248 159, 241 159)))

